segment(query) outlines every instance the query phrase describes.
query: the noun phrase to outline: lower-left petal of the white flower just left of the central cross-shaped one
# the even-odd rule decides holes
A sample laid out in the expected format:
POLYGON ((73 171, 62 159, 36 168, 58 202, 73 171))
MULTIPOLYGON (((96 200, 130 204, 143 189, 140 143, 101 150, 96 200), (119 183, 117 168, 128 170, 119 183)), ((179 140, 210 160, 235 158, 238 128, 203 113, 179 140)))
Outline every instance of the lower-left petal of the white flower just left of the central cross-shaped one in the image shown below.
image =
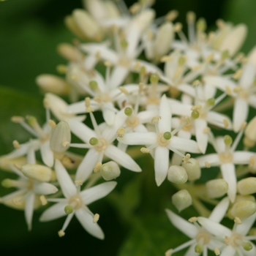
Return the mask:
POLYGON ((99 151, 95 150, 94 148, 89 149, 78 167, 77 173, 75 174, 75 179, 86 181, 86 178, 88 178, 94 170, 94 166, 97 164, 97 162, 99 162, 99 157, 99 151))

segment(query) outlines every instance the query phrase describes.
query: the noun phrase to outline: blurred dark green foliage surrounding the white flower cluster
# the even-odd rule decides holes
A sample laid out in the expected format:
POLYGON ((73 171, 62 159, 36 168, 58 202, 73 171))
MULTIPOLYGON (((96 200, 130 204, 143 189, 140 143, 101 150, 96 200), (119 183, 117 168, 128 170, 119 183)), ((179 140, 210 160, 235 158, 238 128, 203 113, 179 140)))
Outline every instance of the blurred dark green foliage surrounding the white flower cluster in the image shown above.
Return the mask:
MULTIPOLYGON (((133 1, 127 1, 128 6, 132 3, 133 1)), ((63 20, 65 15, 80 7, 80 0, 0 2, 0 154, 7 154, 12 150, 12 140, 18 139, 22 143, 29 138, 18 124, 10 122, 11 116, 32 114, 39 117, 41 124, 44 121, 42 95, 34 80, 42 73, 56 74, 56 65, 65 64, 56 54, 56 45, 59 42, 71 42, 74 38, 65 29, 63 20)), ((158 17, 165 15, 168 10, 178 10, 180 15, 177 20, 182 23, 187 11, 193 10, 197 17, 206 18, 210 28, 214 28, 218 18, 230 20, 235 24, 246 23, 249 34, 242 50, 248 53, 255 45, 255 0, 157 0, 154 8, 158 17)), ((145 167, 145 164, 143 165, 145 167)), ((151 159, 148 159, 147 165, 150 168, 151 159)), ((105 241, 98 241, 89 236, 75 218, 67 228, 67 235, 59 238, 57 231, 61 229, 64 219, 39 223, 37 219, 40 211, 35 212, 33 229, 28 232, 22 211, 0 205, 1 255, 79 253, 89 256, 150 256, 163 255, 165 250, 170 248, 170 244, 177 246, 181 241, 187 241, 185 236, 181 236, 181 233, 172 227, 163 211, 164 208, 171 207, 172 192, 169 184, 165 182, 157 188, 154 184, 154 173, 144 171, 140 181, 137 181, 135 173, 127 170, 123 173, 120 183, 127 185, 126 190, 122 190, 121 185, 118 185, 116 194, 90 206, 91 211, 101 215, 99 225, 105 232, 105 241), (134 222, 127 222, 127 219, 122 219, 113 210, 117 197, 123 199, 124 205, 130 204, 130 208, 135 210, 138 217, 134 218, 134 222), (147 212, 143 211, 143 207, 147 212), (173 233, 178 235, 177 241, 173 238, 173 233)), ((10 175, 1 172, 0 180, 5 177, 10 175)), ((0 193, 0 196, 6 195, 9 190, 1 189, 0 193)), ((120 212, 122 206, 116 207, 120 212)))

